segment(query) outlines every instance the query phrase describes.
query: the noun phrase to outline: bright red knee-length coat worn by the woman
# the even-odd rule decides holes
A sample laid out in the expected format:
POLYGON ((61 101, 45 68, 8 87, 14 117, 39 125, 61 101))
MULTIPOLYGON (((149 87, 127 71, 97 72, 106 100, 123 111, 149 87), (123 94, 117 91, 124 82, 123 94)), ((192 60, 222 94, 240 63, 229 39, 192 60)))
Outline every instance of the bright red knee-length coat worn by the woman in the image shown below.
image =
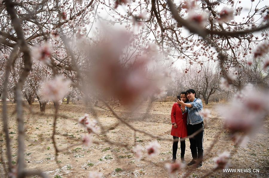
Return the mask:
POLYGON ((171 135, 175 137, 187 137, 187 113, 182 116, 182 111, 178 103, 174 103, 171 111, 171 123, 177 123, 178 127, 172 125, 171 135))

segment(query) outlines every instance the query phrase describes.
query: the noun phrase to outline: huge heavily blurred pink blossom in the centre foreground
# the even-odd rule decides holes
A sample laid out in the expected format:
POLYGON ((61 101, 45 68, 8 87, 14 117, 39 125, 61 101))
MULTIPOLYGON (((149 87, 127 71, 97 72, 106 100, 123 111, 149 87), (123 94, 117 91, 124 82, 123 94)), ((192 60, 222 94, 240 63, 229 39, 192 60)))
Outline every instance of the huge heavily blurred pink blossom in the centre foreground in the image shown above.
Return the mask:
POLYGON ((153 58, 158 54, 155 44, 142 48, 143 52, 134 60, 126 63, 121 61, 122 56, 126 55, 123 50, 130 40, 130 35, 117 32, 93 47, 94 57, 91 64, 94 68, 91 69, 89 78, 89 83, 103 98, 113 97, 124 104, 137 102, 142 95, 157 94, 159 88, 169 81, 164 75, 157 76, 160 71, 149 72, 149 66, 155 62, 153 58), (114 44, 115 41, 117 45, 114 44))

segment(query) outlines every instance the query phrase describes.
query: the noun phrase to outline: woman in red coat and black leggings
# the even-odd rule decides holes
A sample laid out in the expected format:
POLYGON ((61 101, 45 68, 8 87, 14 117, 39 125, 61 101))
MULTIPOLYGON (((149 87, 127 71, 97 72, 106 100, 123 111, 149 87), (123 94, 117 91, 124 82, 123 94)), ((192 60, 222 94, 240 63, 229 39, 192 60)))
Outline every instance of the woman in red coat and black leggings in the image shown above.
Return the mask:
MULTIPOLYGON (((186 103, 187 93, 181 92, 180 93, 181 100, 186 103)), ((185 107, 185 106, 182 106, 185 107)), ((178 150, 178 138, 187 137, 187 113, 182 115, 181 106, 178 103, 174 103, 171 111, 171 122, 172 122, 172 129, 171 135, 173 136, 173 159, 172 162, 175 162, 177 159, 177 150, 178 150)), ((185 163, 184 154, 185 154, 185 140, 180 141, 180 149, 181 149, 181 162, 185 163)))

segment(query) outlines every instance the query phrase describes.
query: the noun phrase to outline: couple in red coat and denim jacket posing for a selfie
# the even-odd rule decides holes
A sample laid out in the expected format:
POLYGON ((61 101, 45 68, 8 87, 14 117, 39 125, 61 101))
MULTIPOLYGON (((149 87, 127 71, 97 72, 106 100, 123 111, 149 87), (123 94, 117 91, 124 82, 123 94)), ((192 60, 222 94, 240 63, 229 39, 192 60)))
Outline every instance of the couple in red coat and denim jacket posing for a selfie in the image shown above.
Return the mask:
POLYGON ((180 138, 181 162, 185 163, 185 138, 189 136, 192 160, 187 165, 195 165, 196 168, 202 166, 204 122, 203 117, 197 114, 202 109, 202 100, 196 98, 195 90, 188 89, 186 92, 181 92, 181 94, 178 95, 177 102, 174 103, 171 111, 171 135, 173 136, 172 162, 175 162, 177 158, 178 140, 180 138))

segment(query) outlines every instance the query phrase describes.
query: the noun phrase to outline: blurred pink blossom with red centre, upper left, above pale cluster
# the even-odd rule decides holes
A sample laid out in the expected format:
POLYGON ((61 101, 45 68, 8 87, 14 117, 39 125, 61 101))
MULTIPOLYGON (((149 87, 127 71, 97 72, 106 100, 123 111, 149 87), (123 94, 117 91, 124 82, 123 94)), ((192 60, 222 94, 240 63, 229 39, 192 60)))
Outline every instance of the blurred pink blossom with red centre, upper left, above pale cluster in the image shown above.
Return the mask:
POLYGON ((42 47, 32 47, 31 54, 33 61, 40 61, 43 64, 50 64, 51 44, 46 42, 42 47))

